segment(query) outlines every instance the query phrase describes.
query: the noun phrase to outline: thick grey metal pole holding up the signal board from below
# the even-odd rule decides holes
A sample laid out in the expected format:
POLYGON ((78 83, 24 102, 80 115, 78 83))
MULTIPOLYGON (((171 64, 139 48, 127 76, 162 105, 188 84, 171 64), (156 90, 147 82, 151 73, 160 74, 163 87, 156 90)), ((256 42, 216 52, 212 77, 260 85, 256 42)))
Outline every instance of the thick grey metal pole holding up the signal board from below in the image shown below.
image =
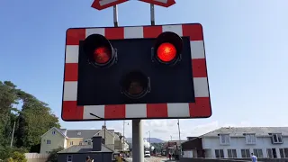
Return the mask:
POLYGON ((132 144, 133 161, 144 162, 144 141, 141 120, 132 120, 132 144))

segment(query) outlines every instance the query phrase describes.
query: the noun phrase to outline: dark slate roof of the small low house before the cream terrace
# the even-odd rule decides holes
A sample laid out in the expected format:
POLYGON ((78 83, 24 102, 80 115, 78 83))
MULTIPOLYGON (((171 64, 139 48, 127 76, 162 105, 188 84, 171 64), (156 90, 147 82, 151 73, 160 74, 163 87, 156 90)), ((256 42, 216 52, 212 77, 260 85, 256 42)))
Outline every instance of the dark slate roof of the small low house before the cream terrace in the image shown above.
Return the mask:
POLYGON ((71 153, 78 153, 84 154, 89 152, 113 152, 112 149, 105 147, 102 145, 101 151, 93 151, 93 145, 79 145, 79 146, 71 146, 69 148, 63 149, 58 152, 58 154, 71 154, 71 153))

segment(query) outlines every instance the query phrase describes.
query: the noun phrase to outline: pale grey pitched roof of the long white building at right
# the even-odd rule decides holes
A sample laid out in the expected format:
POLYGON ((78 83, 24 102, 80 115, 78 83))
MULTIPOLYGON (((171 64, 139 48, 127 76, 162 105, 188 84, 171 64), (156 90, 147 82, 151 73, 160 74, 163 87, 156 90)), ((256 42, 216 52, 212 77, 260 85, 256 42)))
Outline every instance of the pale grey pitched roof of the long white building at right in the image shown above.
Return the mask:
POLYGON ((231 137, 243 136, 244 133, 255 133, 256 136, 269 136, 269 133, 282 133, 288 136, 288 127, 222 127, 212 130, 200 137, 217 137, 219 134, 229 134, 231 137))

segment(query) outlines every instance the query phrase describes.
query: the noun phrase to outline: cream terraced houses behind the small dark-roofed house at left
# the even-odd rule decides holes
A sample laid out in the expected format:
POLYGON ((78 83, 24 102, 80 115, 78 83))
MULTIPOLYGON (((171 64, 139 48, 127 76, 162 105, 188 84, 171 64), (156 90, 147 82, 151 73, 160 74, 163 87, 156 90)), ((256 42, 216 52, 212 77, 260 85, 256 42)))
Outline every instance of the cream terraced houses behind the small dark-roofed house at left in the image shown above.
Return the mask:
POLYGON ((105 139, 106 147, 112 150, 128 149, 128 144, 122 139, 120 132, 107 130, 104 126, 102 130, 66 130, 53 127, 41 136, 40 154, 47 154, 58 147, 69 148, 75 145, 92 145, 94 136, 102 136, 105 139))

